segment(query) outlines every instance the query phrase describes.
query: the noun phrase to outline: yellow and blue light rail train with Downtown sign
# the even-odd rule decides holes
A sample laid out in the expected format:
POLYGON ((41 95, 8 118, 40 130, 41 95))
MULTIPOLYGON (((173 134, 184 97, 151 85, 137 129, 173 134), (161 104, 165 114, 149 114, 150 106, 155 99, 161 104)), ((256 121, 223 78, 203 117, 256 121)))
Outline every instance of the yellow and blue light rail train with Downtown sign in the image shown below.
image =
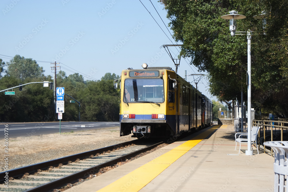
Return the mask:
POLYGON ((123 70, 120 136, 170 137, 212 124, 212 101, 170 67, 123 70))

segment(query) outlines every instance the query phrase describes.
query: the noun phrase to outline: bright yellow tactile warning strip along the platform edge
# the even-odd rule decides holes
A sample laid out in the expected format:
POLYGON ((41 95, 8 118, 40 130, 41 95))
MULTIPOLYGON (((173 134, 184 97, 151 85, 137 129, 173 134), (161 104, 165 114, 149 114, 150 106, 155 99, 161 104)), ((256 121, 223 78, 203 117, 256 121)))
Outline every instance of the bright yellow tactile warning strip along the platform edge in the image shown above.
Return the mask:
POLYGON ((147 164, 139 167, 138 169, 128 173, 124 177, 116 180, 115 182, 107 185, 106 187, 98 190, 101 191, 139 191, 145 185, 147 185, 151 180, 168 168, 172 163, 179 159, 182 155, 187 153, 200 141, 206 138, 211 134, 215 129, 218 129, 220 126, 215 125, 209 130, 199 134, 191 140, 186 141, 185 143, 175 147, 171 151, 157 157, 156 159, 148 162, 147 164), (132 183, 137 183, 133 185, 132 183))

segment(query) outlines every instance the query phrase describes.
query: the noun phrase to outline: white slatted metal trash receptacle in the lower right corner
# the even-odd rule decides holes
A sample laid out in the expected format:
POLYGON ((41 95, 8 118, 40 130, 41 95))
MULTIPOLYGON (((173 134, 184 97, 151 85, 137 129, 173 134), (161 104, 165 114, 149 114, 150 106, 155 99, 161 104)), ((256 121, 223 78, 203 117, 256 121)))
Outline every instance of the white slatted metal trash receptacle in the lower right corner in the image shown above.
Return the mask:
POLYGON ((288 141, 268 141, 264 142, 264 145, 271 147, 274 151, 274 192, 287 191, 288 167, 285 153, 288 155, 288 141))

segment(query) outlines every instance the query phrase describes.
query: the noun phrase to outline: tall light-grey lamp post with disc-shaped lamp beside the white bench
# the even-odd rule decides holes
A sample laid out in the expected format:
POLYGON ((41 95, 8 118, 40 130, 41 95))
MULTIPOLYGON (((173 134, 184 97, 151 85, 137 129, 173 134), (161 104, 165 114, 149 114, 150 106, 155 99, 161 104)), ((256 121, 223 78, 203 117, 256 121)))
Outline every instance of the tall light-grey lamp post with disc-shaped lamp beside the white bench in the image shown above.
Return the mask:
MULTIPOLYGON (((236 32, 236 20, 237 19, 244 19, 246 16, 244 15, 239 15, 238 12, 236 11, 230 11, 229 15, 223 15, 221 16, 222 19, 229 19, 230 20, 230 32, 231 36, 234 37, 235 35, 243 35, 243 34, 235 34, 236 32)), ((244 32, 240 32, 244 33, 244 32)), ((251 150, 251 31, 247 31, 247 74, 248 74, 248 88, 247 88, 247 103, 248 103, 248 128, 247 128, 247 133, 248 133, 248 143, 247 143, 247 148, 248 150, 245 151, 246 155, 253 155, 253 151, 251 150)), ((243 107, 243 106, 242 106, 243 107)))

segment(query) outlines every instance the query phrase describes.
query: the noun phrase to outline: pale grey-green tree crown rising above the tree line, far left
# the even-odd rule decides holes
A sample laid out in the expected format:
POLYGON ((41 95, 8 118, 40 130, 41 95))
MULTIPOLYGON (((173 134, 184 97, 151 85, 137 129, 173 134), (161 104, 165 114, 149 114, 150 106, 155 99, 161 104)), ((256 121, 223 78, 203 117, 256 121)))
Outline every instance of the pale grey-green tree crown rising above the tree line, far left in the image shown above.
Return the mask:
POLYGON ((7 74, 24 81, 27 77, 43 77, 44 70, 35 60, 15 55, 8 66, 7 74))

